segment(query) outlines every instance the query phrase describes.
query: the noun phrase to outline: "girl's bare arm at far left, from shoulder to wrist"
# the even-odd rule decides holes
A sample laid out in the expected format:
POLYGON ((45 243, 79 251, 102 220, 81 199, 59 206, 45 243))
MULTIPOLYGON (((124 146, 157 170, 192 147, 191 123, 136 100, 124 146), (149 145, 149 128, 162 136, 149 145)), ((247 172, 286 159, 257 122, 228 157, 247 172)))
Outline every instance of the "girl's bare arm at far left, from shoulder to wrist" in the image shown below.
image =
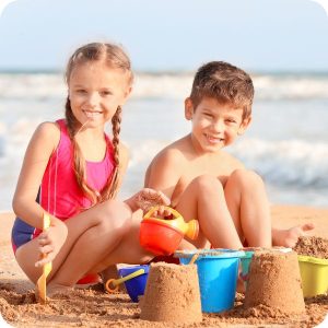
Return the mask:
MULTIPOLYGON (((32 226, 43 227, 43 208, 36 202, 37 192, 51 153, 57 148, 60 131, 56 124, 44 122, 35 130, 26 149, 13 197, 15 214, 32 226)), ((51 224, 60 220, 51 218, 51 224)))

